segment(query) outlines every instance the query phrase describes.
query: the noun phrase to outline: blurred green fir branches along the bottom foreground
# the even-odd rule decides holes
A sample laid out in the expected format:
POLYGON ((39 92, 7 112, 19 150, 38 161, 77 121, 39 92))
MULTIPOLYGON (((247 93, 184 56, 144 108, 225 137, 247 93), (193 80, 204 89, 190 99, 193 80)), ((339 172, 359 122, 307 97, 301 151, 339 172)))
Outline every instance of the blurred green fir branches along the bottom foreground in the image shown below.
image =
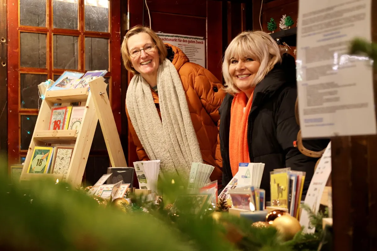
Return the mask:
POLYGON ((190 205, 180 203, 171 213, 166 204, 187 193, 176 176, 159 181, 159 205, 133 197, 127 211, 98 205, 63 182, 9 183, 0 177, 0 250, 317 250, 323 236, 299 233, 282 242, 273 227, 251 227, 227 212, 216 221, 213 207, 191 214, 190 205))

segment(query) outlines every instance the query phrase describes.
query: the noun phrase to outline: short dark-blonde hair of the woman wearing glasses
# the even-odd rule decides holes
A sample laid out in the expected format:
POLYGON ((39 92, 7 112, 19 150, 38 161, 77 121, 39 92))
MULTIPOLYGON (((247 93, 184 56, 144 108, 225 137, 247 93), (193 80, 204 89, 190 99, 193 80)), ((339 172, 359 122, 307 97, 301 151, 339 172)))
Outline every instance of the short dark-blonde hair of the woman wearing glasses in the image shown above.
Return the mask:
POLYGON ((129 40, 130 37, 139 33, 147 33, 148 35, 150 35, 154 44, 157 47, 158 54, 160 55, 160 64, 162 64, 162 62, 167 56, 167 50, 164 45, 164 42, 162 42, 161 38, 159 38, 152 29, 150 29, 149 27, 141 26, 141 25, 132 27, 124 36, 123 43, 121 46, 121 53, 122 53, 124 67, 126 67, 127 71, 131 71, 134 74, 139 74, 139 73, 135 71, 134 68, 132 68, 131 57, 129 55, 129 51, 127 48, 127 41, 129 40))

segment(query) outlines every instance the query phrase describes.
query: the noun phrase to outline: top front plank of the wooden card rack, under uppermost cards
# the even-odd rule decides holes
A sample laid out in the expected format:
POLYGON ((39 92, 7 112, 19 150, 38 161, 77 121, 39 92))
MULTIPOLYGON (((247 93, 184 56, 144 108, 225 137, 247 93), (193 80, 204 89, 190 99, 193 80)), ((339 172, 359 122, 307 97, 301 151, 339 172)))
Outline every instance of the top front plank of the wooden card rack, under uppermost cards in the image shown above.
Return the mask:
POLYGON ((44 99, 54 104, 86 102, 88 94, 88 88, 46 91, 44 99))

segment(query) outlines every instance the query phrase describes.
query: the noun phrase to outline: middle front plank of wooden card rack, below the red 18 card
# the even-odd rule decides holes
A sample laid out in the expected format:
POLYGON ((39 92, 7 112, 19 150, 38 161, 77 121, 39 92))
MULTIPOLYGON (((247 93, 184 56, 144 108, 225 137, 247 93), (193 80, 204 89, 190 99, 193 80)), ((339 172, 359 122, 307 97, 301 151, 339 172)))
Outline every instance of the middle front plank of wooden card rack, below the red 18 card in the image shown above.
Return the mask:
POLYGON ((74 130, 36 130, 34 140, 42 143, 75 143, 77 131, 74 130))

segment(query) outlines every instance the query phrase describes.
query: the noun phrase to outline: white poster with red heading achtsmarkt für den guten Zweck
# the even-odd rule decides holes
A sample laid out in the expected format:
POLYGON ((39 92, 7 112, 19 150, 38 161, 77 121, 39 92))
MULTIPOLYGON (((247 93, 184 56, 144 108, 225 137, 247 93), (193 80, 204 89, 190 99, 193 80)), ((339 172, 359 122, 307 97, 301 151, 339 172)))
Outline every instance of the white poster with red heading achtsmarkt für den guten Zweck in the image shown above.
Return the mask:
POLYGON ((205 68, 205 43, 204 37, 194 37, 169 33, 157 33, 164 43, 178 47, 186 54, 190 62, 205 68))

